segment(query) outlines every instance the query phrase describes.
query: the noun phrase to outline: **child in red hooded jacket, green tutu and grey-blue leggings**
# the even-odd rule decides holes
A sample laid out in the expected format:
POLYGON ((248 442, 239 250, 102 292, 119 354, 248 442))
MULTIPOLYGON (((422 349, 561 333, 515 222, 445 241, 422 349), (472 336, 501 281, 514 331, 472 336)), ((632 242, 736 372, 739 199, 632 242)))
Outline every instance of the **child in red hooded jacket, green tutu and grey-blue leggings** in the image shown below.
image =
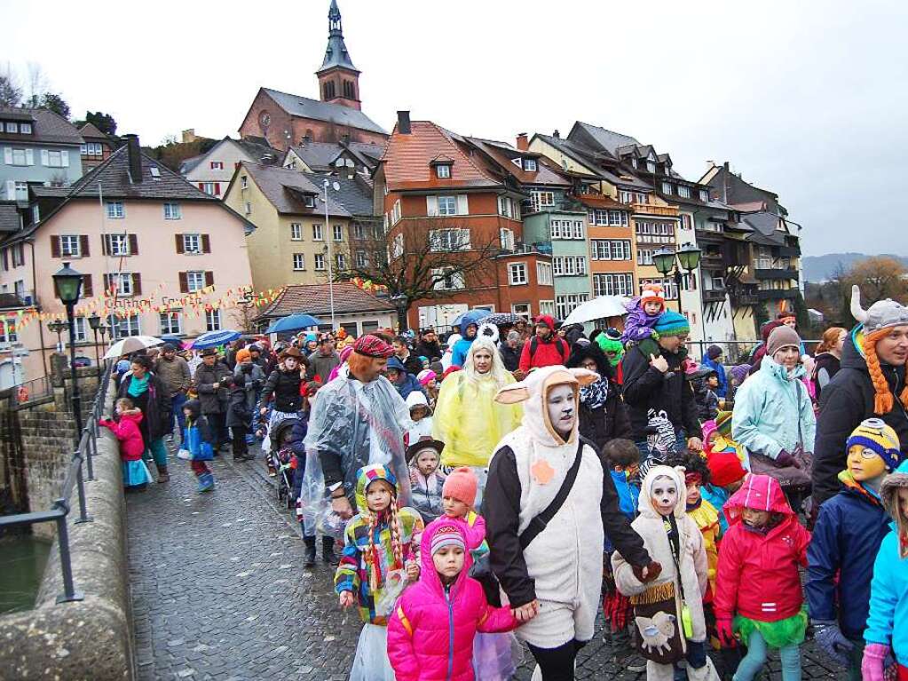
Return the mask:
POLYGON ((810 533, 779 483, 766 475, 747 476, 725 514, 729 527, 719 551, 713 607, 722 645, 735 647, 737 634, 748 648, 735 681, 759 674, 767 646, 779 649, 783 680, 797 681, 807 628, 798 566, 807 564, 810 533))

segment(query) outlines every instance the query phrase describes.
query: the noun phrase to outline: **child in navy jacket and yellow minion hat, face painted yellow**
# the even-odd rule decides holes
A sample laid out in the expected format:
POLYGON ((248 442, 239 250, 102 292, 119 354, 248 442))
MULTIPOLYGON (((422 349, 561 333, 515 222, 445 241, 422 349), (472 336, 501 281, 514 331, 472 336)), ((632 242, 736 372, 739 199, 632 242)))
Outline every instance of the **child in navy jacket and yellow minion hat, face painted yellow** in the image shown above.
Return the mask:
POLYGON ((865 419, 845 449, 847 468, 839 473, 844 489, 820 508, 804 591, 817 643, 859 681, 873 558, 889 533, 880 486, 903 456, 898 436, 883 419, 865 419))

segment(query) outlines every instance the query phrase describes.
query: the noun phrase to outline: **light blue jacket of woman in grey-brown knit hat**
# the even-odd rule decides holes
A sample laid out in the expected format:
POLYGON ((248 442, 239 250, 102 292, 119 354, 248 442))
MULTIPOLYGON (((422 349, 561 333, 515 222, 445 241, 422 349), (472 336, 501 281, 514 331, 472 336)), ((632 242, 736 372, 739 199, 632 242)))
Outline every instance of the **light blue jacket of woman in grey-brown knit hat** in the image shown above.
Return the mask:
POLYGON ((800 380, 803 377, 800 364, 789 380, 782 365, 764 357, 760 370, 735 394, 732 439, 749 452, 775 459, 783 449, 795 451, 800 419, 804 450, 813 452, 816 417, 807 387, 800 380))

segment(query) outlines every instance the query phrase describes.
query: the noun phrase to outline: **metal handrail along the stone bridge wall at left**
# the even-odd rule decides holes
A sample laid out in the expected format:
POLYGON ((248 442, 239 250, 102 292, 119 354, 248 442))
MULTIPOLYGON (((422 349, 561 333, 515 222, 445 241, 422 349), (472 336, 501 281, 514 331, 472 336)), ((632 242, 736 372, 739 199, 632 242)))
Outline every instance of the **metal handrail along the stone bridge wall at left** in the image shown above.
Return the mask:
POLYGON ((69 516, 70 499, 73 487, 75 487, 79 502, 79 518, 74 522, 78 524, 92 521, 92 517, 88 515, 88 508, 85 503, 85 480, 82 464, 85 463, 88 479, 90 481, 94 480, 92 459, 98 453, 98 419, 104 413, 104 406, 107 403, 107 388, 111 382, 111 371, 113 368, 114 363, 108 361, 104 373, 100 377, 98 392, 94 396, 91 416, 82 429, 79 444, 69 460, 69 465, 66 467, 63 485, 60 488, 60 496, 54 499, 54 504, 50 510, 0 516, 0 529, 15 528, 22 525, 31 526, 35 525, 35 523, 51 521, 56 523, 57 548, 60 551, 60 572, 63 575, 64 587, 63 594, 56 598, 57 603, 68 603, 84 599, 84 594, 81 591, 76 591, 73 583, 73 562, 69 550, 69 528, 66 525, 66 518, 69 516))

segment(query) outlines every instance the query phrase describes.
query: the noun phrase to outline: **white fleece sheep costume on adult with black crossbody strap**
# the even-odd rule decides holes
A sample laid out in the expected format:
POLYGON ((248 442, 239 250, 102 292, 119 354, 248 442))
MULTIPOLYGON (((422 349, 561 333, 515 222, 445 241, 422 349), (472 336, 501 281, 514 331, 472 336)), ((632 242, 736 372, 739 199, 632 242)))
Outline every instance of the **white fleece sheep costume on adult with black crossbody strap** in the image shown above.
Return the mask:
MULTIPOLYGON (((563 439, 548 418, 548 391, 558 385, 570 385, 576 405, 580 387, 597 379, 594 371, 551 366, 533 370, 527 379, 498 390, 499 402, 524 405, 521 425, 501 439, 489 461, 491 476, 496 470, 495 457, 502 449, 507 447, 514 453, 520 488, 518 535, 555 498, 577 457, 578 419, 568 439, 563 439)), ((548 526, 522 551, 528 577, 535 584, 539 614, 516 633, 542 648, 593 637, 605 541, 599 518, 603 471, 596 451, 588 444, 583 445, 581 457, 568 498, 548 526)), ((500 503, 500 499, 489 499, 489 493, 489 506, 500 503)), ((489 535, 489 543, 494 553, 495 537, 489 535)))

